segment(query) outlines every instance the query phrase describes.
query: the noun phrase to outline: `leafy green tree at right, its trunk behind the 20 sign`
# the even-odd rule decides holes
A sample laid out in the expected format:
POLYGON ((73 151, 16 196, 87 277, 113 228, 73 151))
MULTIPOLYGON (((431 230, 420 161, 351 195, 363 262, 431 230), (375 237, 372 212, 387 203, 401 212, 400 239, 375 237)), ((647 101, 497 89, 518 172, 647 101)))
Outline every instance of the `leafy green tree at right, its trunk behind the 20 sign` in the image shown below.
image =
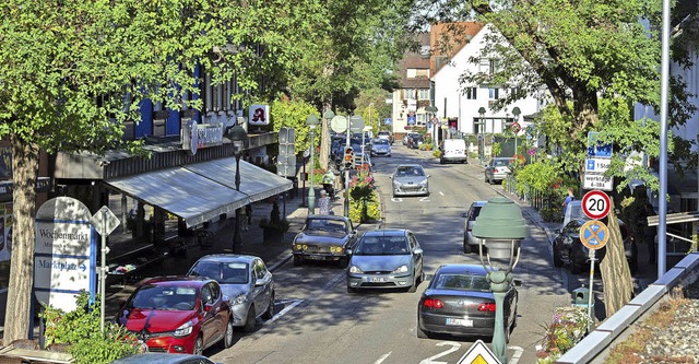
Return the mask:
MULTIPOLYGON (((662 8, 657 1, 443 0, 420 1, 419 5, 429 10, 424 13, 436 14, 441 21, 475 15, 497 30, 486 37, 484 51, 478 56, 494 60, 497 67, 489 74, 465 73, 462 80, 507 84, 517 91, 499 99, 495 108, 545 90, 559 118, 544 118, 543 122, 558 125, 561 136, 558 145, 564 152, 560 157, 562 172, 580 174, 590 130, 602 131, 601 141, 615 143, 615 149, 624 154, 631 150, 657 153, 650 150, 653 144, 643 144, 657 136, 653 133, 656 122, 632 121, 630 113, 621 113, 621 105, 633 103, 652 106, 655 110, 660 108, 657 25, 662 8), (641 19, 650 20, 650 30, 641 19), (608 114, 602 113, 601 99, 613 104, 608 114), (629 128, 639 126, 642 126, 640 130, 630 132, 632 129, 629 128)), ((676 80, 673 84, 680 86, 682 82, 676 80)), ((674 125, 682 125, 692 107, 687 104, 682 87, 671 94, 671 119, 674 125)), ((674 156, 684 154, 675 150, 674 156)), ((616 166, 621 164, 616 162, 616 166)), ((643 174, 639 171, 625 173, 618 167, 613 169, 609 173, 643 174)), ((611 227, 618 228, 615 223, 611 227)), ((607 315, 625 305, 632 293, 628 267, 619 275, 613 275, 615 272, 611 269, 626 267, 619 236, 618 231, 613 232, 607 258, 602 265, 603 280, 609 283, 605 284, 607 315)))

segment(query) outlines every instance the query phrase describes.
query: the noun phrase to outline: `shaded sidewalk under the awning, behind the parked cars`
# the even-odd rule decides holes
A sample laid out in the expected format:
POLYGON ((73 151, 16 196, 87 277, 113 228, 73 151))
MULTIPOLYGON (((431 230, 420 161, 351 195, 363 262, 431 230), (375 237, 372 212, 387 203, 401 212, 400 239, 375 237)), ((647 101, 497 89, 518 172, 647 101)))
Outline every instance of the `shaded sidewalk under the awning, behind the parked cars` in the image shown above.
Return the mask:
MULTIPOLYGON (((301 191, 301 193, 304 192, 307 192, 307 190, 301 191)), ((236 247, 235 253, 253 255, 262 258, 268 266, 268 269, 271 271, 274 271, 277 267, 291 259, 292 242, 296 233, 304 225, 306 216, 308 215, 308 209, 301 206, 301 203, 307 200, 307 196, 301 197, 301 193, 296 193, 294 198, 287 197, 286 200, 284 200, 284 198, 279 199, 280 215, 286 216, 289 222, 289 230, 284 234, 284 237, 280 243, 264 243, 262 238, 262 228, 259 226, 261 219, 270 218, 270 212, 272 211, 273 206, 272 201, 268 199, 252 203, 252 223, 248 225, 247 231, 241 228, 240 236, 242 243, 239 247, 236 247)), ((316 189, 316 196, 320 197, 320 188, 316 189)), ((339 196, 342 195, 339 193, 339 196)), ((318 201, 318 198, 316 200, 318 201)), ((332 201, 332 210, 335 215, 343 215, 343 197, 336 198, 332 201)), ((246 222, 241 221, 241 225, 245 223, 246 222)), ((131 278, 126 282, 108 284, 105 298, 106 319, 109 320, 115 316, 120 303, 129 297, 135 289, 134 284, 139 280, 155 275, 185 274, 199 258, 205 255, 233 251, 232 247, 235 234, 235 218, 213 222, 209 226, 209 231, 213 233, 209 237, 204 238, 201 245, 194 244, 194 242, 197 242, 196 236, 190 237, 189 239, 192 240, 192 244, 187 245, 183 254, 168 254, 159 263, 144 268, 142 271, 133 272, 131 278)), ((173 233, 170 232, 169 234, 171 235, 173 233)), ((115 236, 115 242, 120 240, 118 244, 114 244, 115 246, 128 246, 129 244, 131 244, 131 246, 138 246, 140 244, 132 242, 130 234, 121 233, 121 235, 123 236, 115 236)), ((112 236, 110 236, 110 240, 112 236)), ((109 259, 109 256, 107 259, 109 259)))

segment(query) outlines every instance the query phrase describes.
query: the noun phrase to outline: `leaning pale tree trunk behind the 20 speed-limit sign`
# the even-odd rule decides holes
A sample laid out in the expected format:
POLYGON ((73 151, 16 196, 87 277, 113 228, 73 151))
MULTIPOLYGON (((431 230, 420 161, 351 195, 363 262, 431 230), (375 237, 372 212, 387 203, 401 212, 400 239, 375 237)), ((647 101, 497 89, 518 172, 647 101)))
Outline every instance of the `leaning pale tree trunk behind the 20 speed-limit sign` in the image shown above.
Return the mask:
POLYGON ((606 255, 600 263, 602 282, 604 283, 604 307, 606 317, 611 317, 624 307, 633 294, 633 283, 631 271, 624 255, 624 242, 619 230, 619 222, 614 212, 614 202, 609 209, 607 227, 609 228, 609 240, 606 245, 606 255))

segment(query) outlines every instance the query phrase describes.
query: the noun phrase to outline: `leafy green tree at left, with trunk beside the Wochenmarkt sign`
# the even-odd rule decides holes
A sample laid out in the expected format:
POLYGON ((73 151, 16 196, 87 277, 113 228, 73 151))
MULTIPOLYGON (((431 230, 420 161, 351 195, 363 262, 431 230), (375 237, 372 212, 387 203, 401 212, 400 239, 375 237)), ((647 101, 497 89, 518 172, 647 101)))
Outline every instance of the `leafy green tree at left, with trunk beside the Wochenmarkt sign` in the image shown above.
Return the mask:
POLYGON ((235 75, 250 93, 263 75, 287 80, 313 3, 0 3, 0 138, 12 145, 16 224, 5 342, 28 337, 39 151, 138 152, 139 143, 122 144, 122 121, 139 120, 135 105, 145 97, 174 109, 201 109, 201 98, 183 97, 197 94, 202 82, 193 75, 196 66, 214 84, 235 75))

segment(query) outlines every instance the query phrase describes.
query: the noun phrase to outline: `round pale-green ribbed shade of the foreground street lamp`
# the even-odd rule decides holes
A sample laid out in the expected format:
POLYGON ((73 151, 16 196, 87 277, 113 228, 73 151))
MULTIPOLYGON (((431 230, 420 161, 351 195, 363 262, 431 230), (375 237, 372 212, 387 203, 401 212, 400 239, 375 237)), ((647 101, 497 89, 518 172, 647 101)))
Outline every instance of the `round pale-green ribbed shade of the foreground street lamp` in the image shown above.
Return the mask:
POLYGON ((486 239, 524 239, 529 234, 522 211, 512 200, 495 197, 488 200, 473 223, 473 236, 486 239))

